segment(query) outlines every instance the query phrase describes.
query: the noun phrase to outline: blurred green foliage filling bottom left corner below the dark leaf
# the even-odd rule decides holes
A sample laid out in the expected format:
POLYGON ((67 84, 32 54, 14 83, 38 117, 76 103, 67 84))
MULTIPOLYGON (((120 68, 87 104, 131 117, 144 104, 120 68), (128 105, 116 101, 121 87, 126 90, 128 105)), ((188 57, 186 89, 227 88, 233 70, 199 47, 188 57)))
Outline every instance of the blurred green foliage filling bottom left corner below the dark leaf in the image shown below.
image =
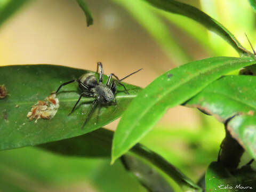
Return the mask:
POLYGON ((110 166, 109 159, 60 156, 34 147, 2 150, 0 157, 0 191, 146 191, 119 161, 110 166))

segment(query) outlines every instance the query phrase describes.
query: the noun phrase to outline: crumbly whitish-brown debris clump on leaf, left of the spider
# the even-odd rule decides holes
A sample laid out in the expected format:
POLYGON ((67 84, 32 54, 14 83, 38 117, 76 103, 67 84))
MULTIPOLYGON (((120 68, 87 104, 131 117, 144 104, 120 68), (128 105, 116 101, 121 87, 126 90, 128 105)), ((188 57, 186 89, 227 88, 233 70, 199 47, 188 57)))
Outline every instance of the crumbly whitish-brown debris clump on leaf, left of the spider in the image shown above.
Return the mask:
POLYGON ((36 119, 35 123, 37 123, 37 119, 39 118, 51 119, 55 116, 59 107, 59 99, 56 98, 55 93, 51 93, 44 101, 37 101, 28 112, 27 117, 30 121, 36 119))

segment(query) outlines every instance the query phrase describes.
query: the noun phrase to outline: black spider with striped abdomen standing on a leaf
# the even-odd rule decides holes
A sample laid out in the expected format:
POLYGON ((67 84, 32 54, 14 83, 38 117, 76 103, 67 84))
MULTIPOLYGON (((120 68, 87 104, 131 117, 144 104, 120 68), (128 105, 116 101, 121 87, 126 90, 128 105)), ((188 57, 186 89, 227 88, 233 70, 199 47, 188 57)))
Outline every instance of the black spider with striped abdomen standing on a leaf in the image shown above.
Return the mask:
POLYGON ((116 105, 116 99, 115 99, 115 94, 116 94, 116 84, 122 85, 124 87, 124 90, 127 94, 129 94, 129 92, 126 90, 124 84, 120 83, 121 81, 123 81, 125 78, 137 73, 138 71, 140 71, 141 69, 131 73, 130 75, 125 76, 122 79, 119 79, 115 74, 110 74, 108 76, 108 80, 106 85, 102 84, 102 80, 103 80, 103 68, 102 68, 102 64, 101 62, 98 62, 97 65, 97 73, 98 70, 100 68, 100 79, 99 82, 97 81, 96 77, 93 74, 84 74, 82 75, 79 79, 73 79, 69 82, 66 83, 62 83, 58 90, 56 91, 56 93, 59 92, 60 88, 64 85, 67 85, 69 83, 73 83, 73 82, 77 82, 79 88, 82 90, 82 93, 79 97, 79 99, 77 100, 75 106, 73 107, 73 109, 71 110, 71 112, 68 114, 70 115, 71 113, 73 113, 73 111, 75 110, 77 103, 81 100, 82 97, 93 97, 95 98, 95 100, 92 103, 92 108, 87 116, 87 118, 85 119, 85 122, 82 126, 82 129, 84 127, 84 125, 87 123, 87 121, 89 121, 93 111, 95 110, 95 108, 98 106, 98 104, 109 104, 111 102, 114 101, 115 105, 116 105), (111 81, 112 76, 114 76, 116 79, 111 81))

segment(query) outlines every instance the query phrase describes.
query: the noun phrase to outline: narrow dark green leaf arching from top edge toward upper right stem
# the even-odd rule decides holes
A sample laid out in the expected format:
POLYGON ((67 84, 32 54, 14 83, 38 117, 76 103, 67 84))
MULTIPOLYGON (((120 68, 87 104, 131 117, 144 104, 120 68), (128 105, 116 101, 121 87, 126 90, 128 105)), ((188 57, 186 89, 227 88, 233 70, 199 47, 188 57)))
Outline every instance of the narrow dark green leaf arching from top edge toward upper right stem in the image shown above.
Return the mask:
POLYGON ((245 53, 249 53, 235 38, 233 34, 230 33, 228 29, 222 26, 217 20, 211 18, 209 15, 205 14, 201 10, 198 10, 196 7, 191 5, 187 5, 184 3, 180 3, 174 0, 144 0, 151 5, 165 10, 167 12, 181 14, 190 19, 193 19, 207 29, 213 31, 214 33, 220 35, 223 39, 225 39, 233 48, 239 53, 239 55, 243 55, 245 53))

